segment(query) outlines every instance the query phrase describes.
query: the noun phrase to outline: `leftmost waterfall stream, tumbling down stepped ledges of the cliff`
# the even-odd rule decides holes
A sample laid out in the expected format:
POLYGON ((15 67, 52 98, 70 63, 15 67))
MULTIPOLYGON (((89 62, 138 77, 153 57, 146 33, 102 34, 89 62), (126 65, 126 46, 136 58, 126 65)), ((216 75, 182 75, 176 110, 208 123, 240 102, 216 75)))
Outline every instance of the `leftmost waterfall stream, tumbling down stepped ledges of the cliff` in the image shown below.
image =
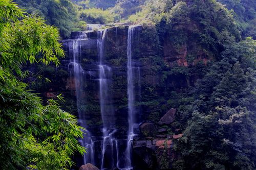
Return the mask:
MULTIPOLYGON (((84 103, 82 102, 83 96, 83 89, 82 84, 84 81, 84 70, 82 69, 79 59, 81 57, 81 41, 84 39, 87 39, 87 35, 85 32, 81 32, 79 36, 75 37, 76 39, 71 40, 72 43, 70 43, 69 51, 70 56, 73 57, 73 61, 71 61, 68 65, 69 70, 71 71, 71 74, 73 74, 75 78, 75 91, 76 91, 76 105, 77 105, 77 112, 78 112, 78 118, 80 126, 83 128, 87 128, 86 125, 86 119, 85 119, 85 113, 80 110, 81 105, 84 103), (72 69, 73 68, 73 69, 72 69), (73 71, 73 72, 72 72, 73 71)), ((83 139, 79 139, 79 142, 81 145, 85 148, 87 148, 87 153, 83 154, 83 163, 95 163, 94 162, 94 142, 91 139, 91 134, 89 131, 84 131, 86 135, 83 139)))

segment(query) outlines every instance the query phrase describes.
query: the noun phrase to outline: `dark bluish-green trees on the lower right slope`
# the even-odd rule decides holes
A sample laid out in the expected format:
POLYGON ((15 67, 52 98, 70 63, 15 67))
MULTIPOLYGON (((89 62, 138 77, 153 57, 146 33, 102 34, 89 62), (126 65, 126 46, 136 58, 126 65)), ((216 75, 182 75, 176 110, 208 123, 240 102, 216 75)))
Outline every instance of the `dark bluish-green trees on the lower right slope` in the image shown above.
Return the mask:
POLYGON ((195 100, 186 105, 189 109, 180 108, 187 124, 176 142, 181 157, 175 169, 255 168, 255 41, 248 38, 224 46, 221 60, 191 89, 195 100), (231 47, 238 49, 235 56, 231 47))

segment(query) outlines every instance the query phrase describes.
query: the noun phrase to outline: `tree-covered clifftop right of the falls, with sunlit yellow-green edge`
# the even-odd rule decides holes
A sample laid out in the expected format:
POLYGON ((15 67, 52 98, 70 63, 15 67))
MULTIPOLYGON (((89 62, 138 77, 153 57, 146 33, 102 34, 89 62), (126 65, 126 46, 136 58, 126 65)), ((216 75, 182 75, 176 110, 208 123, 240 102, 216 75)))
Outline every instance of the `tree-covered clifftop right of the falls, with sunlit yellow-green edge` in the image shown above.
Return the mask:
POLYGON ((189 44, 191 53, 198 53, 200 50, 209 58, 217 57, 223 49, 223 42, 220 41, 224 40, 223 37, 240 39, 232 12, 220 3, 194 1, 188 6, 182 1, 176 4, 171 1, 163 2, 165 1, 150 1, 141 12, 130 18, 135 23, 156 26, 160 42, 169 41, 177 52, 189 44))

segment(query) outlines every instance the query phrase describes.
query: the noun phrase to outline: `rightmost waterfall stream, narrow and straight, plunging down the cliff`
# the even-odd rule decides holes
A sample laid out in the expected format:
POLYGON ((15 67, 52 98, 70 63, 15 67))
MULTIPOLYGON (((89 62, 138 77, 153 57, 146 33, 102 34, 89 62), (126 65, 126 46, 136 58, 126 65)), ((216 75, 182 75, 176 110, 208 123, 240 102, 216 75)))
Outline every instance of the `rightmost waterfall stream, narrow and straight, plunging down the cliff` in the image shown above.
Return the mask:
MULTIPOLYGON (((124 169, 133 169, 132 166, 132 144, 134 138, 134 125, 136 123, 136 110, 135 110, 135 89, 134 89, 134 65, 132 60, 132 44, 134 39, 135 28, 138 27, 130 26, 128 29, 127 37, 127 96, 128 96, 128 122, 129 129, 127 133, 127 145, 125 151, 125 167, 124 169)), ((140 75, 140 72, 139 72, 140 75)), ((140 80, 140 78, 139 78, 140 80)))

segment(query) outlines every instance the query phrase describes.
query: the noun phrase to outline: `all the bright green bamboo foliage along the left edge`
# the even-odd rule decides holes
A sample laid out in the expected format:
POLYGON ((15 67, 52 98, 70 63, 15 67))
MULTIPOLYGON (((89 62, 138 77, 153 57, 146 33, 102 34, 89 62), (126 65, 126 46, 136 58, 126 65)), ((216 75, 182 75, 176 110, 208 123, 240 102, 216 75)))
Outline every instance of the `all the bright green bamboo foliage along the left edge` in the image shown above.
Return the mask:
POLYGON ((75 151, 85 152, 77 141, 81 127, 56 101, 43 106, 22 81, 27 62, 59 64, 58 29, 24 14, 0 1, 0 168, 67 169, 75 151))

